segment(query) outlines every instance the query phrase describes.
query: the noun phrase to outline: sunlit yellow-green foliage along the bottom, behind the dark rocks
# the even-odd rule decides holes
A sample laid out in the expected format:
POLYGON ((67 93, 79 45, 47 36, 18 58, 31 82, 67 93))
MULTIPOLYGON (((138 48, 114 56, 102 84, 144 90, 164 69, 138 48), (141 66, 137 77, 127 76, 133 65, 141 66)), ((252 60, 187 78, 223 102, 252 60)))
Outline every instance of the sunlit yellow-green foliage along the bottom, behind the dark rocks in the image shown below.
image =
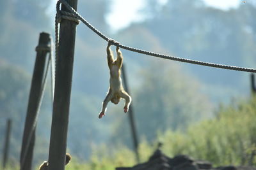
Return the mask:
MULTIPOLYGON (((145 139, 140 143, 141 162, 148 160, 158 141, 163 152, 173 157, 187 154, 194 159, 209 160, 214 166, 256 166, 256 98, 221 108, 210 120, 190 125, 186 132, 168 130, 159 134, 153 145, 145 139)), ((70 164, 68 169, 114 169, 136 164, 134 153, 120 145, 95 147, 89 162, 70 164)))

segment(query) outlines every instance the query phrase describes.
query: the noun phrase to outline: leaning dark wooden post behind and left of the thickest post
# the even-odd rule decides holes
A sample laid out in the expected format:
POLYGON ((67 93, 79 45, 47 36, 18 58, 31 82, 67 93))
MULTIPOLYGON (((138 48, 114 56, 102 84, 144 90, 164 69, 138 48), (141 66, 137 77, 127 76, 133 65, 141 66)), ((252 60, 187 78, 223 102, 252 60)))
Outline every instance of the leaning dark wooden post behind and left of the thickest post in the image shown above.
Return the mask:
POLYGON ((40 34, 38 47, 45 48, 45 50, 36 50, 36 61, 29 92, 28 110, 23 132, 22 148, 20 152, 20 170, 31 170, 33 149, 35 145, 36 113, 40 109, 45 60, 47 52, 49 52, 47 47, 49 47, 50 40, 50 34, 45 32, 40 34))

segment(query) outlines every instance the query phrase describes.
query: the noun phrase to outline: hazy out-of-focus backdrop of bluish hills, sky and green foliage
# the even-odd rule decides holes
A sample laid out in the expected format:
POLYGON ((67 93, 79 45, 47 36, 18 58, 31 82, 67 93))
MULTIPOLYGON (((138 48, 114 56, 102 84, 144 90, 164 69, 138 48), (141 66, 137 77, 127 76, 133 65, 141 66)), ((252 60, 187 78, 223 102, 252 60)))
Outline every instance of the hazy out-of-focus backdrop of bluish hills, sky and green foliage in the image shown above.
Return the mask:
MULTIPOLYGON (((6 119, 12 118, 10 164, 19 162, 35 47, 40 32, 54 35, 55 5, 52 0, 0 1, 0 153, 6 119)), ((123 45, 205 62, 256 66, 253 0, 94 0, 78 1, 77 11, 123 45)), ((77 166, 90 169, 136 164, 124 101, 109 103, 106 117, 98 118, 109 86, 106 45, 85 25, 77 26, 67 150, 77 166)), ((186 153, 216 165, 248 163, 256 146, 249 73, 122 52, 141 160, 163 141, 170 156, 186 153), (238 146, 239 151, 234 149, 238 146)), ((49 152, 50 82, 38 118, 34 166, 47 160, 49 152)), ((256 164, 254 156, 251 163, 256 164)))

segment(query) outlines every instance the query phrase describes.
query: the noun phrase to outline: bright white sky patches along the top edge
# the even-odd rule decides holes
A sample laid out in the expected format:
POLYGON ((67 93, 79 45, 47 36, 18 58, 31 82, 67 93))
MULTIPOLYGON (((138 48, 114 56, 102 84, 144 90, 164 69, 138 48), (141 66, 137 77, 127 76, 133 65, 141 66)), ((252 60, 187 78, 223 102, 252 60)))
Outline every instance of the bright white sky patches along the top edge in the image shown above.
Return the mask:
MULTIPOLYGON (((112 12, 106 17, 113 31, 127 27, 131 22, 139 22, 144 16, 139 13, 147 0, 113 0, 112 12), (118 24, 116 24, 118 23, 118 24)), ((159 0, 166 3, 167 0, 159 0)), ((178 1, 178 0, 177 0, 178 1)), ((209 6, 227 10, 228 8, 236 8, 243 3, 242 0, 204 0, 209 6)), ((250 0, 248 0, 250 1, 250 0)))

